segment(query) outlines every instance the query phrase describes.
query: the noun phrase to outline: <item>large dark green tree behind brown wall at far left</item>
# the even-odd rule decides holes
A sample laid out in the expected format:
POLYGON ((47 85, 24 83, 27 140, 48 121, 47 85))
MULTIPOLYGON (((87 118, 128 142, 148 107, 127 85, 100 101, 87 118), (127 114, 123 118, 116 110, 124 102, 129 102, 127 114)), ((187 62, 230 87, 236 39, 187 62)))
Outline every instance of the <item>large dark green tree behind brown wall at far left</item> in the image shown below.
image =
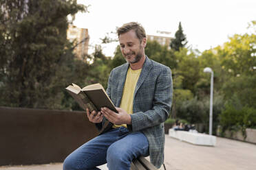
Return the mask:
POLYGON ((86 11, 86 7, 75 0, 0 4, 1 106, 60 108, 61 89, 67 84, 72 69, 68 65, 74 57, 66 38, 67 15, 86 11))

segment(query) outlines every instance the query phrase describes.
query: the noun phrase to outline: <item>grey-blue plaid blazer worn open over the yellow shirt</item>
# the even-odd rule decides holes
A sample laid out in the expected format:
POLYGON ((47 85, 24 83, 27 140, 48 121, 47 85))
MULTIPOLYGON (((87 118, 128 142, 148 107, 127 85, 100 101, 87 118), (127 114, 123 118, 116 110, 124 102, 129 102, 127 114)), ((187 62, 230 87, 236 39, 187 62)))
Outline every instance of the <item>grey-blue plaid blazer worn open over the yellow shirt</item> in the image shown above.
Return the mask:
MULTIPOLYGON (((129 63, 113 69, 109 75, 107 95, 116 107, 120 106, 129 63)), ((131 132, 140 131, 149 141, 151 163, 160 167, 164 162, 164 121, 171 111, 171 69, 146 56, 134 91, 134 114, 131 114, 131 132)))

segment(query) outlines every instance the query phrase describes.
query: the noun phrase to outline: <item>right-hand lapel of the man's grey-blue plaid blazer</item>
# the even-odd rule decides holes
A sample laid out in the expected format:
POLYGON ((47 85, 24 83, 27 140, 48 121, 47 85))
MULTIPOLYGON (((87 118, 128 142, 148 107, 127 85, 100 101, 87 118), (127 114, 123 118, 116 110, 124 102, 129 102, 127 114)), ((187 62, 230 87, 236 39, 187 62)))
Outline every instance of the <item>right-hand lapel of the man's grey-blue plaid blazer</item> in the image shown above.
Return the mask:
POLYGON ((151 70, 151 68, 152 68, 151 60, 149 60, 149 58, 146 56, 146 60, 143 64, 142 71, 140 73, 140 77, 139 77, 138 82, 136 84, 136 88, 135 88, 135 91, 134 91, 134 97, 135 97, 138 89, 140 88, 141 84, 144 82, 145 78, 149 74, 149 71, 151 70))

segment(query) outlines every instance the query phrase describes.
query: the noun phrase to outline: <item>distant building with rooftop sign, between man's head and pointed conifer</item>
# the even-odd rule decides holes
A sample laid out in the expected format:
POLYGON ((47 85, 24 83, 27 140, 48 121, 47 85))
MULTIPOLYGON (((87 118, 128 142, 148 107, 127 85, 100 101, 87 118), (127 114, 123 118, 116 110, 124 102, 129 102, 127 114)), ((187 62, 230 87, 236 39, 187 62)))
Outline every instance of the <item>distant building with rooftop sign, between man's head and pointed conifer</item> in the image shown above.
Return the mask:
POLYGON ((171 39, 171 32, 157 31, 156 34, 147 35, 147 40, 156 40, 160 45, 167 45, 168 47, 170 46, 171 39))

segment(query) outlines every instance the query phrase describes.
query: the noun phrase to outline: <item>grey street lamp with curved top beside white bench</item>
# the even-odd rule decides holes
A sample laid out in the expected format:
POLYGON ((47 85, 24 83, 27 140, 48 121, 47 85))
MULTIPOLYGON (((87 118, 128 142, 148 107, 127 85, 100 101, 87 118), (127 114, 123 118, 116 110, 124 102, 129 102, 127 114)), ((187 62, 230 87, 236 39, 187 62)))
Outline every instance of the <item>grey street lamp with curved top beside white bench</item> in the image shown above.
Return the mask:
POLYGON ((213 70, 210 67, 204 68, 204 73, 211 73, 211 96, 210 96, 210 118, 209 118, 209 134, 213 132, 213 70))

